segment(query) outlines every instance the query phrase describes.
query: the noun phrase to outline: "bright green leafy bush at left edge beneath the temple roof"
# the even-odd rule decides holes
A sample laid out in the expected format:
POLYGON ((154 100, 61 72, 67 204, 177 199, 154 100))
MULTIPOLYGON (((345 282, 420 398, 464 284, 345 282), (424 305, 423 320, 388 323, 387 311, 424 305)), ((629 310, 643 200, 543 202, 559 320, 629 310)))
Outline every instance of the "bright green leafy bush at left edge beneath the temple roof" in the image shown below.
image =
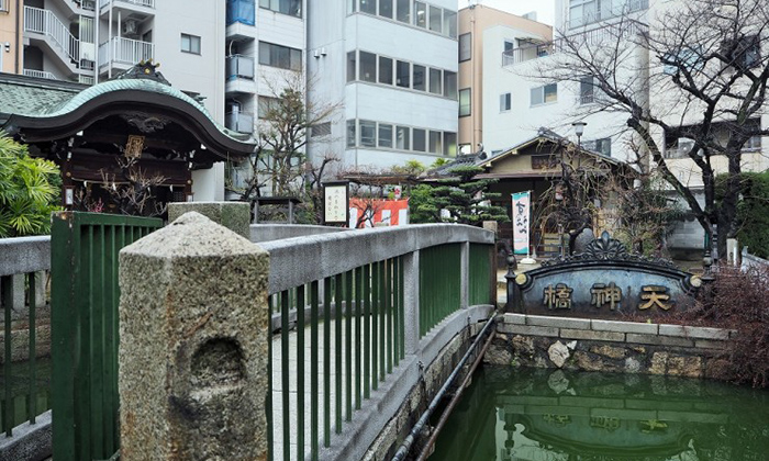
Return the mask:
POLYGON ((0 133, 0 237, 47 234, 58 210, 59 170, 0 133))

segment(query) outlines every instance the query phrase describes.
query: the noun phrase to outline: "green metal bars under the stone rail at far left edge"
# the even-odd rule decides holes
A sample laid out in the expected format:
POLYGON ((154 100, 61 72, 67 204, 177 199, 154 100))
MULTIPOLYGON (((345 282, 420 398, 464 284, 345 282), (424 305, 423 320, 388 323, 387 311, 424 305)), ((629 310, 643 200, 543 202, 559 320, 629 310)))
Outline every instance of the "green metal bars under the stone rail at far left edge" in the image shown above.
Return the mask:
MULTIPOLYGON (((0 293, 2 293, 3 308, 3 366, 2 366, 2 405, 0 405, 0 425, 7 437, 13 436, 13 428, 24 421, 36 423, 36 417, 49 408, 49 386, 47 373, 38 373, 37 362, 37 289, 42 280, 41 273, 30 272, 22 276, 24 279, 24 302, 19 312, 22 318, 14 319, 13 276, 0 277, 0 293), (26 314, 24 316, 24 314, 26 314), (18 328, 13 328, 16 324, 18 328), (26 324, 26 325, 24 325, 26 324), (24 335, 26 331, 26 335, 24 335), (26 339, 26 360, 19 361, 13 355, 14 334, 16 340, 26 339), (18 361, 14 363, 13 360, 18 361), (43 374, 43 375, 41 375, 43 374)), ((19 353, 19 351, 16 352, 19 353)))

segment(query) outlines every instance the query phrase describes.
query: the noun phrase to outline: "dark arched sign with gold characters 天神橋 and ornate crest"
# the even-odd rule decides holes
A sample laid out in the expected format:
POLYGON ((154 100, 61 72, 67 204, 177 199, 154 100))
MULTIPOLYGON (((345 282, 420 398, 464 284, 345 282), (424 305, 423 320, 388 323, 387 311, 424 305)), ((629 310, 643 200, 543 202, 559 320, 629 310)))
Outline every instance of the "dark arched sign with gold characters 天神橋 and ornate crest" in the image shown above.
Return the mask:
POLYGON ((584 252, 515 278, 515 310, 526 314, 612 318, 687 310, 701 279, 672 262, 628 254, 604 232, 584 252))

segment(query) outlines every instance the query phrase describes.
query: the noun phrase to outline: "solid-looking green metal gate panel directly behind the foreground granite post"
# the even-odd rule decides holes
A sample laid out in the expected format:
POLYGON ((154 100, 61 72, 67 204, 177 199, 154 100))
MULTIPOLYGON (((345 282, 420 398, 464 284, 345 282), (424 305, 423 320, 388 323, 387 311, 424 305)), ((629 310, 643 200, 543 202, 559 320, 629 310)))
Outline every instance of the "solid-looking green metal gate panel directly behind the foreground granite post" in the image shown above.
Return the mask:
POLYGON ((54 215, 54 459, 104 460, 120 448, 118 252, 161 225, 99 213, 54 215))

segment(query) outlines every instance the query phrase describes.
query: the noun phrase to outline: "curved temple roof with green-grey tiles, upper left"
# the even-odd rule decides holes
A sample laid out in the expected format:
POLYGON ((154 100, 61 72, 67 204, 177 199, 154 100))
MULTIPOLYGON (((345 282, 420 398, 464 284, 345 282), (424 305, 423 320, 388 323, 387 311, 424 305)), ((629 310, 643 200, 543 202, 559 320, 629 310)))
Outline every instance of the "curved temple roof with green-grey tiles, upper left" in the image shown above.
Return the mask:
POLYGON ((5 78, 0 81, 0 127, 20 134, 25 142, 54 140, 110 115, 141 111, 178 123, 220 159, 243 158, 254 151, 250 135, 219 124, 200 102, 171 87, 156 67, 140 63, 112 80, 80 91, 79 86, 5 78))

